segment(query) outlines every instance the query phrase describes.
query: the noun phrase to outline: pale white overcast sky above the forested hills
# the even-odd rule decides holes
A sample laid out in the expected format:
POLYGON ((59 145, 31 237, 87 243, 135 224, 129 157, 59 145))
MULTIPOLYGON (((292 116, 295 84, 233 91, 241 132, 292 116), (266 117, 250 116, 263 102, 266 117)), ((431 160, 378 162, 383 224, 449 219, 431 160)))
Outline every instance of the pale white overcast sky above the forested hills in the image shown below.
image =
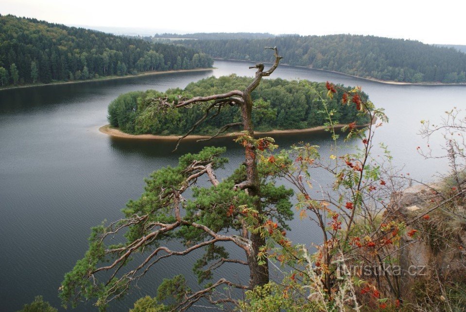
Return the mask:
POLYGON ((465 0, 0 0, 0 13, 157 32, 377 35, 463 44, 465 0))

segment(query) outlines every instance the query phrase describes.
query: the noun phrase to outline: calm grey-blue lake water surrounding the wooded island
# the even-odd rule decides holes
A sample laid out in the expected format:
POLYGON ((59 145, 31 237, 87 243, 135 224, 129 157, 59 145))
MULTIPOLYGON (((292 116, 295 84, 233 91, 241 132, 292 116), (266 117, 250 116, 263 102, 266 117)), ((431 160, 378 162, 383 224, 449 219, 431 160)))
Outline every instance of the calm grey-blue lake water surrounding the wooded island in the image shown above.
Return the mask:
MULTIPOLYGON (((86 251, 89 228, 120 218, 120 209, 140 195, 149 173, 204 146, 186 141, 172 154, 173 143, 111 139, 98 131, 107 123, 108 103, 128 91, 164 91, 211 75, 253 74, 248 63, 217 61, 214 66, 218 69, 206 72, 0 91, 0 311, 16 311, 35 295, 59 307, 57 289, 86 251)), ((453 106, 466 108, 466 87, 385 85, 293 67, 278 68, 274 77, 362 86, 375 104, 386 109, 390 122, 379 129, 377 139, 389 146, 397 164, 405 164, 403 172, 423 180, 445 172, 445 162, 417 155, 415 147, 426 142, 416 132, 420 120, 437 121, 453 106)), ((322 147, 324 156, 329 153, 327 133, 276 139, 283 147, 310 141, 322 147)), ((231 139, 210 144, 228 147, 226 170, 242 162, 242 151, 231 139)), ((311 224, 295 221, 292 228, 295 242, 318 241, 311 224)), ((190 276, 193 259, 165 261, 139 283, 140 289, 109 311, 127 311, 142 295, 154 295, 164 277, 190 276)), ((230 270, 221 273, 245 278, 242 268, 230 270)), ((95 308, 87 304, 73 311, 88 310, 95 308)))

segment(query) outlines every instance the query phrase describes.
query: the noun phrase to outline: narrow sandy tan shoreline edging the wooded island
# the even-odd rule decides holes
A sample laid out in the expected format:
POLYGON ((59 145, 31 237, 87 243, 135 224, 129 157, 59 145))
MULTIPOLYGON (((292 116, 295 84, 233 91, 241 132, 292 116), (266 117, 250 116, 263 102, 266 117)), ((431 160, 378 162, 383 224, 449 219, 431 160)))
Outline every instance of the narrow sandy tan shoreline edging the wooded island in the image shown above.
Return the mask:
MULTIPOLYGON (((372 120, 372 124, 374 124, 377 121, 377 119, 372 120)), ((364 127, 369 125, 370 123, 364 124, 364 125, 358 125, 358 127, 364 127)), ((347 126, 347 124, 335 124, 333 125, 334 129, 341 129, 343 127, 347 126)), ((302 134, 302 133, 312 133, 312 132, 319 132, 325 129, 329 129, 329 126, 317 126, 317 127, 312 127, 312 128, 307 128, 307 129, 288 129, 288 130, 272 130, 272 131, 265 131, 265 132, 259 132, 255 131, 254 136, 273 136, 273 135, 282 135, 282 134, 302 134)), ((102 132, 103 134, 106 134, 112 138, 120 138, 120 139, 145 139, 145 140, 165 140, 165 141, 176 141, 180 137, 179 136, 161 136, 161 135, 154 135, 154 134, 128 134, 124 133, 120 129, 113 128, 110 126, 110 124, 106 124, 102 127, 99 127, 99 131, 102 132)), ((224 135, 215 137, 214 139, 217 138, 229 138, 229 137, 238 137, 241 135, 241 132, 230 132, 226 133, 224 135)), ((198 139, 208 139, 210 136, 205 136, 205 135, 189 135, 184 139, 187 140, 198 140, 198 139)))

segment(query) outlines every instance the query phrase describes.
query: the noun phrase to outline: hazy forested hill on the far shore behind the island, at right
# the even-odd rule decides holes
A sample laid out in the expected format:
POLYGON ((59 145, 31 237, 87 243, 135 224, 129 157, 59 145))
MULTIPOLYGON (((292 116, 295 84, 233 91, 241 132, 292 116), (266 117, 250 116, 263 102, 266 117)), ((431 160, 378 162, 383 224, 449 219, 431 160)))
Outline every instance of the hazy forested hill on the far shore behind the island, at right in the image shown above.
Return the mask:
POLYGON ((264 47, 276 46, 283 63, 289 65, 400 82, 466 82, 465 53, 412 40, 362 35, 295 35, 182 43, 214 58, 267 62, 272 59, 264 47))

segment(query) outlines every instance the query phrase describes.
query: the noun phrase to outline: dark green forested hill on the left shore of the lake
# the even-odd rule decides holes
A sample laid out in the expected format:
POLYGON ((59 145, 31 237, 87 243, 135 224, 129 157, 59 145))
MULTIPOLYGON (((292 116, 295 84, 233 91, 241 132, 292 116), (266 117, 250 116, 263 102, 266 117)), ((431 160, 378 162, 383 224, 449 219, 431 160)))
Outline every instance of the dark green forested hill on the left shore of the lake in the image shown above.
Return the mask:
POLYGON ((21 18, 0 16, 0 86, 212 67, 205 53, 21 18))

